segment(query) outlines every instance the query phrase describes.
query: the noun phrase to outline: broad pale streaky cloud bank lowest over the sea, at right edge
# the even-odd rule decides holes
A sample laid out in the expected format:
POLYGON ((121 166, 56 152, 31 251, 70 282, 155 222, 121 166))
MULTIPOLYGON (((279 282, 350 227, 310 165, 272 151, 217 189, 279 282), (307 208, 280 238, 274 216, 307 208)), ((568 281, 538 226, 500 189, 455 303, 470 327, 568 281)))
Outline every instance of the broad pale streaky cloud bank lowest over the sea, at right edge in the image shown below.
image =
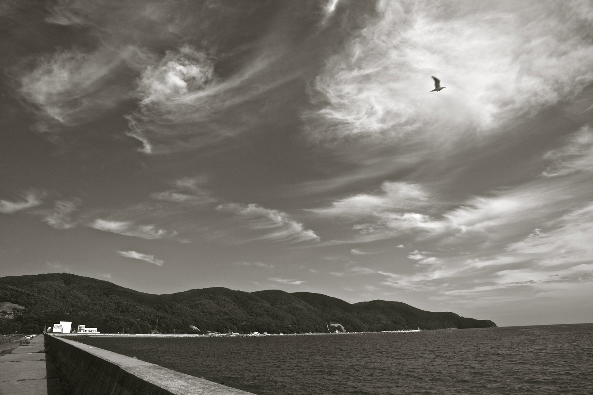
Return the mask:
POLYGON ((541 224, 548 230, 537 228, 502 250, 494 246, 474 249, 471 256, 441 257, 416 250, 407 257, 429 265, 418 266, 420 270, 412 274, 376 272, 384 275, 381 284, 458 301, 477 296, 517 300, 559 289, 561 284, 592 282, 593 203, 541 224))

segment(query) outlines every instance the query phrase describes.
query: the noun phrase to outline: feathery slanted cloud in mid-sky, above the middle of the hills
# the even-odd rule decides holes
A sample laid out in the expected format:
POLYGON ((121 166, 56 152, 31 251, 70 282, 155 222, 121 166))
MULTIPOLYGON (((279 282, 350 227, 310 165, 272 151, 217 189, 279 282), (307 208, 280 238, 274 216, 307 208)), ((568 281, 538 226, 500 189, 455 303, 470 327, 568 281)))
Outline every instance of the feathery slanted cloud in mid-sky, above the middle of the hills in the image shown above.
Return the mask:
POLYGON ((227 203, 216 210, 235 214, 246 221, 246 227, 253 232, 263 233, 254 239, 273 239, 291 243, 318 241, 319 236, 313 230, 305 229, 303 224, 290 219, 282 211, 271 210, 257 204, 227 203))

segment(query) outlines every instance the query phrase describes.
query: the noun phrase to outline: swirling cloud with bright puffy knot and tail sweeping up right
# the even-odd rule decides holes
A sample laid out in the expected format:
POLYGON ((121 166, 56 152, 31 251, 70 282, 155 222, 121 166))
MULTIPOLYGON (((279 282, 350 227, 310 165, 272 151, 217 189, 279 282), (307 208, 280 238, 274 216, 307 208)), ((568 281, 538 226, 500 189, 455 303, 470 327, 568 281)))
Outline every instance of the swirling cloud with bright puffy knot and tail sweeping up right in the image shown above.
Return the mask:
POLYGON ((264 75, 279 53, 262 53, 240 72, 222 79, 216 75, 212 55, 191 46, 167 51, 142 72, 136 89, 139 108, 126 115, 126 134, 142 142, 141 152, 167 153, 249 130, 256 121, 247 115, 253 110, 246 106, 295 77, 295 72, 264 75))

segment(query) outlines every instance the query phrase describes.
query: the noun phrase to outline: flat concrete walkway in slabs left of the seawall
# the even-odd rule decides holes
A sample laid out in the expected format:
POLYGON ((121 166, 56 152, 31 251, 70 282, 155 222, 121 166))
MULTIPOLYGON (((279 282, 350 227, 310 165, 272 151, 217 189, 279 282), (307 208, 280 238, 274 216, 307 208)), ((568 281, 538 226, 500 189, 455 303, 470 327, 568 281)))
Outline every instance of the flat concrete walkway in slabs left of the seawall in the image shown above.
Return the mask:
POLYGON ((59 395, 58 375, 43 335, 0 356, 0 395, 59 395))

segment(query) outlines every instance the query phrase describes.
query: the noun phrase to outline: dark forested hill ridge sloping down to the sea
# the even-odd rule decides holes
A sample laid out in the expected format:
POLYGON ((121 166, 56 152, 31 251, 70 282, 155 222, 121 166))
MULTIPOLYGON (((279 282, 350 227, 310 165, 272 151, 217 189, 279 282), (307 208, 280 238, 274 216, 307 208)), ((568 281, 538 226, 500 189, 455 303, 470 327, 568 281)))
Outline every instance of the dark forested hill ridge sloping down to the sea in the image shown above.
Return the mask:
POLYGON ((1 277, 2 302, 25 308, 0 318, 0 333, 40 333, 44 325, 59 321, 103 333, 149 333, 157 330, 157 320, 162 333, 328 332, 331 322, 348 332, 496 326, 490 320, 432 313, 396 301, 350 304, 308 292, 228 288, 153 295, 67 273, 1 277))

